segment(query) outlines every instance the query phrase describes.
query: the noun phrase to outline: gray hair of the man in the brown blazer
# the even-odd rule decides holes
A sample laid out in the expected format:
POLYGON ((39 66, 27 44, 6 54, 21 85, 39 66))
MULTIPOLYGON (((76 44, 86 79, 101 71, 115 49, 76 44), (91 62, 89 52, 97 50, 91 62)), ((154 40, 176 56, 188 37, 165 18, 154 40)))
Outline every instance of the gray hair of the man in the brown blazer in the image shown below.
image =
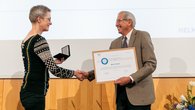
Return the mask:
POLYGON ((131 13, 129 11, 121 11, 120 13, 124 14, 124 19, 131 19, 133 22, 132 27, 135 27, 136 19, 135 19, 135 16, 133 15, 133 13, 131 13))

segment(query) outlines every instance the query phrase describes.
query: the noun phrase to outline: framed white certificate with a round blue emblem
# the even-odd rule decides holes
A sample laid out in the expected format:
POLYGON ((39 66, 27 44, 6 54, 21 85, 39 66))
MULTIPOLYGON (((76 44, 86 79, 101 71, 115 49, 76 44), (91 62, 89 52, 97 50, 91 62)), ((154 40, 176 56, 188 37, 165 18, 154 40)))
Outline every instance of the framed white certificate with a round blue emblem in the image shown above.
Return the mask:
POLYGON ((93 52, 96 82, 108 82, 136 72, 135 48, 102 50, 93 52))

